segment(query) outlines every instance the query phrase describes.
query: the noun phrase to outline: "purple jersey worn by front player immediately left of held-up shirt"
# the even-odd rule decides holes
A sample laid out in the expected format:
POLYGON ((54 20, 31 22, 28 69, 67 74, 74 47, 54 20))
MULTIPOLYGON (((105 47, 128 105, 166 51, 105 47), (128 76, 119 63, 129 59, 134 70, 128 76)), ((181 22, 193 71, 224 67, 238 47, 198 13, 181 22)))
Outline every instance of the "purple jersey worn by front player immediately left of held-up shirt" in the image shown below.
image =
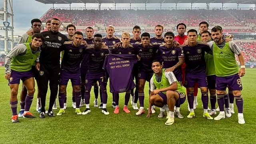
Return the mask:
POLYGON ((94 45, 87 46, 85 49, 86 54, 89 56, 89 66, 88 73, 101 73, 104 72, 103 64, 107 54, 110 51, 107 47, 101 48, 100 50, 95 50, 94 45))

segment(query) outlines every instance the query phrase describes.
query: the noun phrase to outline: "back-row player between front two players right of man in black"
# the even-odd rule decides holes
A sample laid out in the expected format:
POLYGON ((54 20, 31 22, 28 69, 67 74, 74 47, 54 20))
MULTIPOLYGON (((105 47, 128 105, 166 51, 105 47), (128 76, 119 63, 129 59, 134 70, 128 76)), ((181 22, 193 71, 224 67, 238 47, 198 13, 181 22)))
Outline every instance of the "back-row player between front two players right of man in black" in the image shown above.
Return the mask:
MULTIPOLYGON (((84 40, 86 41, 88 46, 94 45, 94 39, 93 39, 93 34, 94 30, 92 27, 87 27, 86 28, 86 38, 84 40)), ((84 93, 85 93, 85 77, 86 73, 88 71, 88 66, 89 66, 89 57, 87 54, 84 54, 83 60, 81 62, 81 94, 82 94, 82 100, 80 103, 80 107, 84 106, 85 100, 84 100, 84 93)), ((95 100, 94 100, 94 107, 98 107, 98 94, 99 94, 99 86, 97 82, 94 82, 94 95, 95 95, 95 100)), ((100 92, 100 103, 101 107, 103 106, 102 103, 102 93, 100 92)))

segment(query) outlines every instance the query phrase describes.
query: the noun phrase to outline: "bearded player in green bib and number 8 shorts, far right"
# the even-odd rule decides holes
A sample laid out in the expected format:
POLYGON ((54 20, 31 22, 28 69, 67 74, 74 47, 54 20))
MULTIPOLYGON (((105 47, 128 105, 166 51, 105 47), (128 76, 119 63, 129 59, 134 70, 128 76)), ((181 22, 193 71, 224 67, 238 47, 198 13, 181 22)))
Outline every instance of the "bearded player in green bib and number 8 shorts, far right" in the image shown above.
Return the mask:
MULTIPOLYGON (((238 108, 238 123, 244 124, 243 115, 243 98, 241 94, 242 82, 240 77, 245 75, 244 56, 239 47, 232 41, 226 42, 222 39, 222 28, 215 26, 211 30, 212 39, 209 45, 213 51, 214 65, 216 71, 216 90, 218 97, 218 105, 220 114, 214 120, 225 118, 224 113, 224 96, 226 95, 226 88, 229 86, 233 91, 236 99, 236 106, 238 108), (239 69, 236 62, 235 54, 238 55, 241 68, 239 69)), ((226 109, 227 111, 227 109, 226 109)))

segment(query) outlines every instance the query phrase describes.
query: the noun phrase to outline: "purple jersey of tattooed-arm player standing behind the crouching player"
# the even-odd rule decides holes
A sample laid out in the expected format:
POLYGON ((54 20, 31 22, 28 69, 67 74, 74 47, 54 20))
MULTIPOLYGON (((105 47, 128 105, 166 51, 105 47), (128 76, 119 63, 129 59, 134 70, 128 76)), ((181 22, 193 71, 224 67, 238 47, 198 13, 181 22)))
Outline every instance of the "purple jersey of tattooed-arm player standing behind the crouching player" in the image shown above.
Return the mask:
MULTIPOLYGON (((164 68, 171 68, 175 66, 179 62, 179 58, 184 57, 182 48, 176 48, 175 46, 172 46, 172 48, 166 48, 166 44, 161 44, 158 52, 162 58, 164 68)), ((176 68, 173 73, 175 75, 181 74, 181 67, 176 68)))

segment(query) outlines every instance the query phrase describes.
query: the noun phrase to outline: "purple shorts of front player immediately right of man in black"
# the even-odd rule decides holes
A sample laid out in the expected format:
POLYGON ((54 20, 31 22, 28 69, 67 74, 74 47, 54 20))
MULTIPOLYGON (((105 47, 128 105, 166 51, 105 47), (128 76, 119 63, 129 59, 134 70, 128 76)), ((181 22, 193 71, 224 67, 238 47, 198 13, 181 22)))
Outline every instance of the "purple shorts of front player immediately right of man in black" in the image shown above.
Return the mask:
POLYGON ((60 86, 68 85, 68 80, 71 80, 72 86, 80 86, 81 85, 80 72, 71 74, 62 70, 60 72, 60 80, 59 80, 60 86))

